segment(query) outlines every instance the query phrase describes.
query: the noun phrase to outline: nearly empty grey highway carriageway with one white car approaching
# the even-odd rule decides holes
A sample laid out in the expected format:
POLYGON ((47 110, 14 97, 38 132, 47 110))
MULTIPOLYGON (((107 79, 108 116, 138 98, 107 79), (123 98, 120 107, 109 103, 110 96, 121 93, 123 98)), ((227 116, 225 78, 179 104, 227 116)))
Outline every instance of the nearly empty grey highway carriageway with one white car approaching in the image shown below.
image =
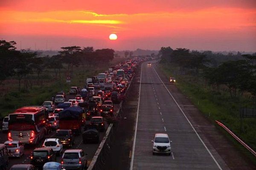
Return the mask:
POLYGON ((228 169, 218 153, 195 131, 153 66, 148 67, 144 62, 141 69, 130 170, 228 169), (171 156, 152 154, 151 140, 155 133, 169 135, 171 156))

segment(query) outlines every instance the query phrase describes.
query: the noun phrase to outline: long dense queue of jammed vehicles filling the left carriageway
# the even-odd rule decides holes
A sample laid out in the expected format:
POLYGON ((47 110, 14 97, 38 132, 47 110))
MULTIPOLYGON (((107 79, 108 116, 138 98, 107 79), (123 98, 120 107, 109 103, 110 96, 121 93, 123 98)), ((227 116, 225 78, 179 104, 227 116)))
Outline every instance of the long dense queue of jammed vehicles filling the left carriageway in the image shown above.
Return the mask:
POLYGON ((0 144, 5 169, 87 169, 90 163, 83 145, 90 148, 101 142, 141 61, 126 60, 87 78, 83 88, 72 86, 41 106, 24 106, 6 116, 7 140, 0 144), (23 156, 28 159, 17 161, 23 156))

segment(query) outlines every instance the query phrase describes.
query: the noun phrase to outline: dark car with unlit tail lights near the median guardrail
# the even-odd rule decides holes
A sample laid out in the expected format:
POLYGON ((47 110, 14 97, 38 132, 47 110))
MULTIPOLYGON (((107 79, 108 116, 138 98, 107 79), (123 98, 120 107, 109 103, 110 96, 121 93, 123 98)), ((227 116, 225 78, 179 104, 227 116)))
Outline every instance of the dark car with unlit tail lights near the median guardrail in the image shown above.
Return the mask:
POLYGON ((99 143, 99 131, 96 128, 97 127, 90 126, 84 131, 82 135, 84 144, 88 142, 99 143))

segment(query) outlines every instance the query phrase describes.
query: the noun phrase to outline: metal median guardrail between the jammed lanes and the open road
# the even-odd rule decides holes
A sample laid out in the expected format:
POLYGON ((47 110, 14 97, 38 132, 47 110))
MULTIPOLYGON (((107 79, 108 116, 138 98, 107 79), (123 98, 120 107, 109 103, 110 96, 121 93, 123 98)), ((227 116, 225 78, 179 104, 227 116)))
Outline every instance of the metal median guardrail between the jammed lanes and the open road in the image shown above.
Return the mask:
MULTIPOLYGON (((131 78, 130 84, 128 86, 128 88, 125 91, 124 96, 127 96, 127 92, 131 86, 132 80, 133 80, 134 76, 131 78)), ((120 102, 119 104, 119 109, 116 112, 115 117, 117 117, 119 115, 120 112, 122 112, 122 105, 123 105, 123 100, 120 102)), ((89 165, 89 167, 87 168, 87 170, 102 170, 103 166, 106 164, 106 157, 108 156, 108 151, 111 148, 111 139, 114 137, 113 135, 113 123, 111 123, 108 126, 108 129, 105 133, 105 136, 103 137, 101 143, 99 144, 98 149, 96 150, 93 159, 89 165)))

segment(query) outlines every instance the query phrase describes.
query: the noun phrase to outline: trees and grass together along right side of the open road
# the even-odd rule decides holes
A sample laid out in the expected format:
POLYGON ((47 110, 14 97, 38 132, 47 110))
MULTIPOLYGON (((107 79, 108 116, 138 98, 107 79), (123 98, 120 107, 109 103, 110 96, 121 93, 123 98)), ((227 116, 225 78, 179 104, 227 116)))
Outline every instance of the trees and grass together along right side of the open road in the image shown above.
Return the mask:
POLYGON ((170 47, 161 48, 160 54, 160 68, 167 77, 176 78, 177 88, 213 124, 215 120, 224 123, 256 150, 256 118, 239 115, 240 108, 256 107, 256 54, 223 55, 170 47))

